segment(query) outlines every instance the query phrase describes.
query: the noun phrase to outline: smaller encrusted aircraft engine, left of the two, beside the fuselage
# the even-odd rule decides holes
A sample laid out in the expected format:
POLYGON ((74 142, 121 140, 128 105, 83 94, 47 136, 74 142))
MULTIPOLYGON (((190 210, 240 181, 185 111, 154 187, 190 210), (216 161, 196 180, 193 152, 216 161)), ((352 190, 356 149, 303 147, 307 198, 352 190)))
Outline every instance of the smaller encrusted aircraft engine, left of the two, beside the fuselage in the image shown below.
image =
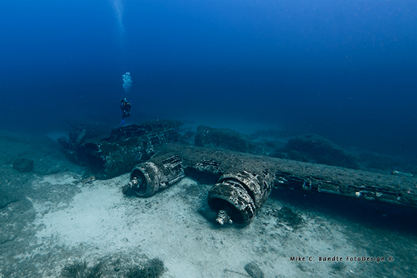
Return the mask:
POLYGON ((123 187, 125 195, 151 197, 184 177, 179 156, 159 156, 133 167, 129 183, 123 187))

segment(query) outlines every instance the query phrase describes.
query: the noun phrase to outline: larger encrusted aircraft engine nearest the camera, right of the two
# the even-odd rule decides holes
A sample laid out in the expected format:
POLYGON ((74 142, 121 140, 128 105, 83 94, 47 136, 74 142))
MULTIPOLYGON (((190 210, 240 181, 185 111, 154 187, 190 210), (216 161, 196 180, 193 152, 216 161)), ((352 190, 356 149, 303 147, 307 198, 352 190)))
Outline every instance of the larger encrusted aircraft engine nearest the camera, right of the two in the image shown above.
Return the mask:
POLYGON ((259 173, 241 170, 223 174, 208 192, 208 206, 218 213, 216 221, 249 223, 270 195, 272 181, 268 169, 259 173))

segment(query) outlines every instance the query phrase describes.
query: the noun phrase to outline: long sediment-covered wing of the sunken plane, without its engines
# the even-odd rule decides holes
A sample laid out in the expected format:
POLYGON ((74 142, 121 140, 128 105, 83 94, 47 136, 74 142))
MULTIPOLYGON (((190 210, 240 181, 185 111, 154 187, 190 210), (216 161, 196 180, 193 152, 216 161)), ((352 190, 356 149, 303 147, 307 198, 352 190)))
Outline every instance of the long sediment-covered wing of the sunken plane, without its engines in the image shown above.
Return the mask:
MULTIPOLYGON (((156 152, 158 154, 171 153, 181 157, 186 173, 190 171, 190 168, 198 172, 199 167, 197 165, 204 160, 212 161, 211 163, 216 165, 212 169, 216 171, 221 169, 224 171, 223 174, 239 167, 240 170, 247 172, 264 167, 273 173, 274 188, 329 193, 417 207, 416 177, 386 175, 176 143, 158 146, 156 152)), ((211 168, 204 167, 204 169, 208 171, 211 168)), ((215 174, 219 173, 216 172, 215 174)))

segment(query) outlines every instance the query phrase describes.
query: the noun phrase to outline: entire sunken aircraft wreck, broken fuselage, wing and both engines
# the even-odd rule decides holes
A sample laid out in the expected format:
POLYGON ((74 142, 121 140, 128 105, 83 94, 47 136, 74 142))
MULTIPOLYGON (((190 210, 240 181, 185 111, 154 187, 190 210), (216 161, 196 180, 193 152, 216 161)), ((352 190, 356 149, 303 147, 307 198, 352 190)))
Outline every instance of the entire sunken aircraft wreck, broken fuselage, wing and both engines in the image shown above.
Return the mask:
MULTIPOLYGON (((250 222, 273 188, 417 207, 417 177, 185 145, 179 143, 179 125, 173 121, 135 124, 114 129, 110 138, 85 141, 77 138, 77 143, 61 139, 61 144, 99 179, 131 172, 130 181, 123 188, 126 195, 151 197, 185 176, 214 183, 208 193, 208 206, 218 214, 216 221, 220 224, 250 222)), ((210 130, 204 127, 199 132, 196 140, 201 141, 210 130)), ((235 140, 230 134, 237 133, 226 136, 235 140)), ((237 136, 243 140, 241 135, 237 136)), ((209 139, 206 136, 204 140, 209 139)), ((227 146, 224 138, 220 142, 222 147, 227 146)), ((216 145, 215 139, 212 143, 216 145)))

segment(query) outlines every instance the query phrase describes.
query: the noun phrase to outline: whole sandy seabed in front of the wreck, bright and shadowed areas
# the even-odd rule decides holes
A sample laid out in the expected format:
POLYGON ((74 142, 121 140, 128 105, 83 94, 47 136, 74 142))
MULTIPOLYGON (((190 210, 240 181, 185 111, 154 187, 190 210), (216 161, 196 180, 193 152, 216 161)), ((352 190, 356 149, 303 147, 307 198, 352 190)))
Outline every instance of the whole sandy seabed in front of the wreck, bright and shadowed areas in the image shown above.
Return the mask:
MULTIPOLYGON (((159 258, 161 277, 177 278, 254 277, 248 263, 263 277, 417 273, 415 231, 356 222, 311 205, 308 196, 291 202, 285 191, 273 192, 249 225, 220 227, 207 216, 211 185, 192 179, 142 199, 122 194, 129 174, 82 183, 73 170, 22 174, 5 161, 1 190, 14 201, 0 208, 0 277, 59 277, 74 261, 112 256, 159 258), (355 256, 369 261, 347 260, 355 256)), ((108 271, 107 277, 123 277, 122 270, 108 271)))

